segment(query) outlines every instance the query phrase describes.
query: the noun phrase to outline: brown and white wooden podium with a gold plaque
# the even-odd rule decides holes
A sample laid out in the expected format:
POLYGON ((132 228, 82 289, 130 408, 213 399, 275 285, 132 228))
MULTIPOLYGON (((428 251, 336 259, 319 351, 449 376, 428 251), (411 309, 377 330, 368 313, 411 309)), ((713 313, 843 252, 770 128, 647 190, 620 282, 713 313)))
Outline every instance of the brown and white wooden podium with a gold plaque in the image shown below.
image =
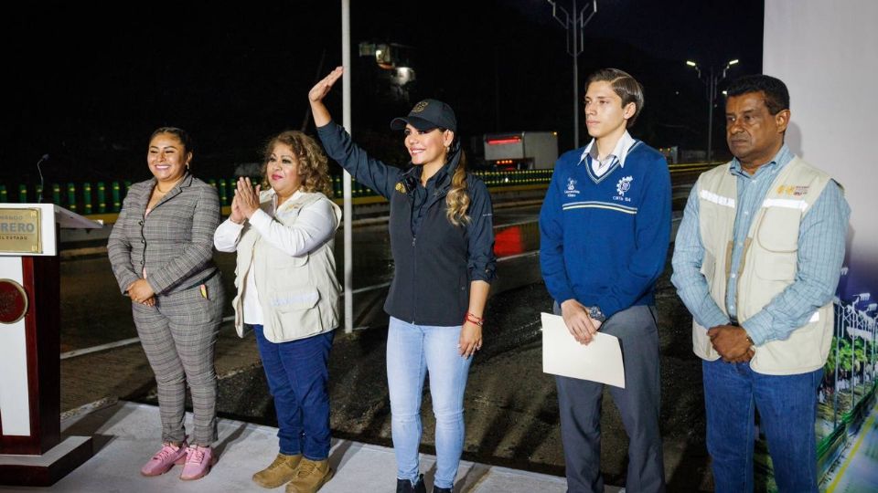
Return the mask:
POLYGON ((59 228, 100 223, 51 204, 0 204, 0 484, 49 486, 92 455, 60 433, 59 228))

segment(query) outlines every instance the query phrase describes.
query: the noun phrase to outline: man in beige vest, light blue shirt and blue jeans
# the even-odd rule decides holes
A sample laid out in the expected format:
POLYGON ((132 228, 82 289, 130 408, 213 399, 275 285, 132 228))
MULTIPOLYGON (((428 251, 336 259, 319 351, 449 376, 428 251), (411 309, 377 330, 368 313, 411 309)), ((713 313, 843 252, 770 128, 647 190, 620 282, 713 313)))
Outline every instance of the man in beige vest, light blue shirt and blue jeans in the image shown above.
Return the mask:
POLYGON ((781 80, 733 81, 725 109, 734 159, 692 188, 671 278, 702 360, 715 490, 753 491, 756 409, 777 488, 817 492, 817 389, 850 208, 839 184, 784 143, 781 80))

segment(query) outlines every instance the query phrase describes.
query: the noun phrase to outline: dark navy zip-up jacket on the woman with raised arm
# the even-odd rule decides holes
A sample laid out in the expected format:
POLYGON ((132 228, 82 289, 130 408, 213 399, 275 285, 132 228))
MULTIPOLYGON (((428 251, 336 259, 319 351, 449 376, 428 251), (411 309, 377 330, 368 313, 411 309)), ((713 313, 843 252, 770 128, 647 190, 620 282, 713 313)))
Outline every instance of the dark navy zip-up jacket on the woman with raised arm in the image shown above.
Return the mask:
POLYGON ((497 269, 487 186, 466 175, 470 222, 454 226, 445 215, 445 195, 460 152, 424 189, 420 167, 401 170, 370 158, 334 121, 318 127, 317 135, 329 157, 391 203, 388 227, 396 268, 384 311, 416 325, 461 325, 469 308, 469 283, 491 282, 497 269), (422 200, 416 201, 415 194, 422 200))

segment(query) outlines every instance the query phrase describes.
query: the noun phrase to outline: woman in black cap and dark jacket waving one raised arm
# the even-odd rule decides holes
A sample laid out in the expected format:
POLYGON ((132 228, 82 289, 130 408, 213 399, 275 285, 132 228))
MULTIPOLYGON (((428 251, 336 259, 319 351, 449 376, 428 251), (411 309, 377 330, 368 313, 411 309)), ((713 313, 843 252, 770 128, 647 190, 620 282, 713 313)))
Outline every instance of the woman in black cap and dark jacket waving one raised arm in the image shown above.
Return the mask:
POLYGON ((481 180, 466 173, 455 112, 423 100, 391 121, 405 131, 412 167, 372 159, 323 104, 342 68, 308 93, 317 134, 327 154, 391 203, 391 251, 396 271, 384 303, 387 381, 399 492, 424 492, 418 472, 421 393, 430 373, 436 418, 434 492, 451 492, 464 446, 466 374, 482 345, 482 315, 494 278, 491 200, 481 180))

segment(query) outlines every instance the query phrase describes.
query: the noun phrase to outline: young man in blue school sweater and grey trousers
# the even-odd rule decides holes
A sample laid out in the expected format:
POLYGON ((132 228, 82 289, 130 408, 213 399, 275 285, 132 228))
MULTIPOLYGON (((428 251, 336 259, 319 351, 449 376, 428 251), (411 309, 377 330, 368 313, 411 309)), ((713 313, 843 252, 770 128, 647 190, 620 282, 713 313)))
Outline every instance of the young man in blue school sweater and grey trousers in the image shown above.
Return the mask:
MULTIPOLYGON (((586 82, 592 142, 565 152, 540 213, 542 277, 573 340, 598 330, 619 338, 625 388, 609 387, 630 439, 628 491, 664 491, 659 434, 659 334, 654 288, 670 235, 670 175, 664 156, 631 137, 643 88, 616 68, 586 82)), ((567 491, 602 492, 604 385, 556 376, 567 491)))

